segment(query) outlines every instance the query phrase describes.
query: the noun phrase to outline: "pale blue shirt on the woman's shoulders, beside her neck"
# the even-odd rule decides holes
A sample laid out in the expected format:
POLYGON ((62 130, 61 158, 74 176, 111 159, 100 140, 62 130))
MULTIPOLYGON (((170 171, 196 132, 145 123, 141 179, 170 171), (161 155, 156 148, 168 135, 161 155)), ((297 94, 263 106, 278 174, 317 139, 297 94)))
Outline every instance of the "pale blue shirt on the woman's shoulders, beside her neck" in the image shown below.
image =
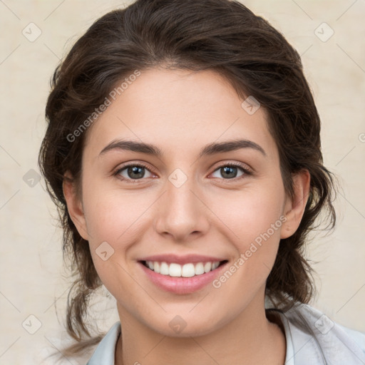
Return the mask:
MULTIPOLYGON (((331 321, 307 304, 283 313, 276 309, 287 340, 285 365, 364 365, 365 334, 331 321)), ((115 365, 120 322, 110 328, 86 365, 115 365)))

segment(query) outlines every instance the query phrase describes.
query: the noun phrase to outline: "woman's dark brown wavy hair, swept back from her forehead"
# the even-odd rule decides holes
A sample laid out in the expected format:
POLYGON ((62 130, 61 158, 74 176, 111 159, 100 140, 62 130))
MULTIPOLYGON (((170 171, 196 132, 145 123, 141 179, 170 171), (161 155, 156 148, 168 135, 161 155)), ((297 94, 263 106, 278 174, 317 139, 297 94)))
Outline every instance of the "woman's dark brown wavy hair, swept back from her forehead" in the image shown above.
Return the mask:
MULTIPOLYGON (((238 1, 138 0, 126 9, 110 11, 76 41, 56 68, 46 105, 48 128, 39 153, 48 192, 61 218, 63 257, 71 259, 76 275, 68 295, 67 331, 77 341, 91 337, 85 323, 88 301, 102 283, 88 242, 73 225, 63 196, 65 172, 69 170, 76 183, 81 178, 87 130, 73 141, 69 135, 116 83, 135 70, 158 66, 215 70, 240 97, 254 96, 269 115, 287 195, 292 196, 292 174, 309 170, 311 186, 302 222, 294 235, 281 240, 267 279, 266 294, 275 307, 288 309, 313 297, 304 242, 317 228, 314 223, 323 208, 328 213, 326 228, 336 222, 331 204, 334 176, 322 164, 317 108, 299 54, 282 34, 238 1)), ((99 339, 89 341, 95 344, 99 339)))

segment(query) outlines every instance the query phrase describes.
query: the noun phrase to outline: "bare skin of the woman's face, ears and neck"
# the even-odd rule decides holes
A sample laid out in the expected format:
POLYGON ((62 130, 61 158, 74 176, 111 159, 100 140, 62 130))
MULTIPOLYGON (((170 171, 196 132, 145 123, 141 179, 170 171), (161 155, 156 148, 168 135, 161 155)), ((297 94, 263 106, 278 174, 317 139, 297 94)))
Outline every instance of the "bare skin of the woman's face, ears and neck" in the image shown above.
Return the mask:
POLYGON ((123 332, 117 365, 284 364, 285 336, 265 315, 264 288, 279 240, 291 236, 302 219, 309 173, 294 176, 289 199, 264 108, 249 115, 241 104, 214 71, 153 68, 88 130, 81 196, 67 180, 63 190, 96 270, 117 301, 123 332), (118 149, 100 154, 122 138, 156 145, 162 155, 118 149), (257 143, 266 155, 241 148, 199 158, 205 145, 237 138, 257 143), (133 183, 127 169, 113 175, 123 163, 145 163, 150 172, 133 183), (253 173, 239 167, 237 177, 227 178, 220 168, 230 163, 253 173), (168 180, 177 168, 187 177, 180 187, 168 180), (148 255, 193 253, 225 257, 229 267, 281 216, 281 227, 219 288, 165 292, 137 262, 148 255), (114 250, 106 261, 96 255, 101 242, 114 250), (180 333, 169 325, 176 315, 186 323, 180 333))

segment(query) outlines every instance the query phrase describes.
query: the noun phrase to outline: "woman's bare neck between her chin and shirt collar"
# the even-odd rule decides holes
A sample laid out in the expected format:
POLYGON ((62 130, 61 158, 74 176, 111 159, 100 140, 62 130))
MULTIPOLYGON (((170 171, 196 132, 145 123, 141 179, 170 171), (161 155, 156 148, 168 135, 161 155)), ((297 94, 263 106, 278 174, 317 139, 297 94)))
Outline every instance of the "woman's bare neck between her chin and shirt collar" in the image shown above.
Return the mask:
POLYGON ((223 327, 203 336, 187 337, 159 334, 118 307, 122 334, 115 365, 160 365, 169 364, 171 359, 175 365, 284 364, 282 330, 269 322, 263 302, 261 307, 251 304, 223 327))

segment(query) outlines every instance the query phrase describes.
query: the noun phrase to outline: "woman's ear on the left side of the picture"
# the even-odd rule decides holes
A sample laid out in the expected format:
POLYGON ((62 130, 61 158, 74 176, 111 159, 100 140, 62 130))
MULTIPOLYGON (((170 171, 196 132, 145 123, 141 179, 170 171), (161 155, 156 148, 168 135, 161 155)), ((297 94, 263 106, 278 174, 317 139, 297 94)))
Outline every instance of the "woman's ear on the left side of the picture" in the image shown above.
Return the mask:
POLYGON ((88 230, 86 219, 83 213, 81 197, 78 196, 75 182, 71 173, 68 171, 63 176, 63 195, 66 199, 68 214, 73 224, 76 226, 78 233, 84 240, 88 240, 88 230))

